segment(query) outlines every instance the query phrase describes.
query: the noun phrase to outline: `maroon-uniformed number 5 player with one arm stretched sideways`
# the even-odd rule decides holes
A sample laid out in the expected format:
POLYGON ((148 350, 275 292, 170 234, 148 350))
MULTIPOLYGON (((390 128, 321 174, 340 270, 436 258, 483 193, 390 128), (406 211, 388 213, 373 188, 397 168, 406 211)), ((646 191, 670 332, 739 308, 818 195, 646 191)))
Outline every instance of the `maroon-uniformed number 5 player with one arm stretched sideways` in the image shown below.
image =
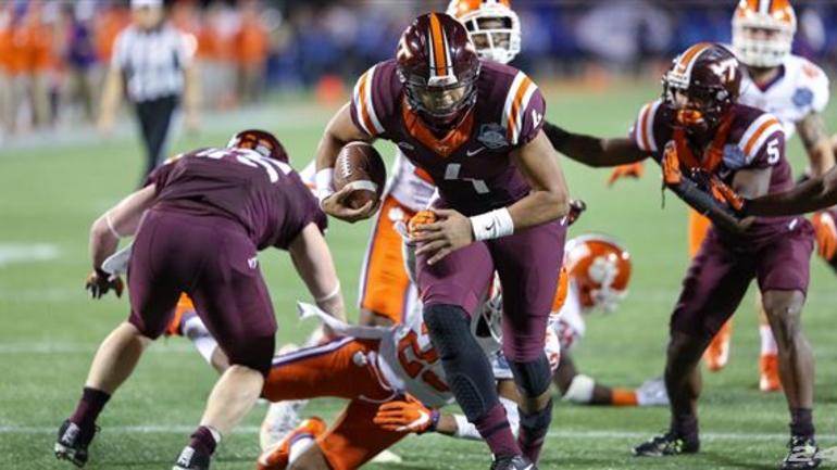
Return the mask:
POLYGON ((738 60, 720 45, 701 42, 675 59, 663 77, 663 99, 642 106, 629 138, 599 139, 558 127, 550 137, 561 152, 591 166, 651 156, 663 167, 664 185, 713 221, 672 313, 665 367, 671 428, 635 447, 635 455, 698 452, 697 365, 757 279, 778 343, 791 418, 791 450, 782 468, 815 468, 820 459, 812 419, 813 357, 801 327, 813 228, 802 217, 742 223, 726 217, 741 205, 729 186, 748 198, 792 186, 780 122, 738 104, 740 82, 738 60))

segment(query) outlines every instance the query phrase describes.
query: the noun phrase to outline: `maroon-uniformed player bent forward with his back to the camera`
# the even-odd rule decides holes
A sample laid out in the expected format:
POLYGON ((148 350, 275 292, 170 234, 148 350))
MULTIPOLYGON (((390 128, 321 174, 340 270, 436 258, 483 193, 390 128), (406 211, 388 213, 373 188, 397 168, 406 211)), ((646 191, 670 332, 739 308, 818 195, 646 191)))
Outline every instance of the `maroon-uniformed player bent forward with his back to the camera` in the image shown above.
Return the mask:
POLYGON ((122 281, 102 270, 122 237, 134 234, 132 312, 93 358, 82 398, 58 433, 55 455, 83 466, 96 420, 130 376, 145 348, 168 325, 182 292, 217 339, 229 367, 207 403, 201 425, 174 470, 210 466, 222 435, 255 403, 271 370, 276 319, 258 251, 287 250, 318 304, 342 316, 342 296, 322 236, 325 215, 287 164, 274 136, 236 134, 227 148, 199 149, 157 168, 145 188, 104 213, 90 231, 95 297, 122 281))

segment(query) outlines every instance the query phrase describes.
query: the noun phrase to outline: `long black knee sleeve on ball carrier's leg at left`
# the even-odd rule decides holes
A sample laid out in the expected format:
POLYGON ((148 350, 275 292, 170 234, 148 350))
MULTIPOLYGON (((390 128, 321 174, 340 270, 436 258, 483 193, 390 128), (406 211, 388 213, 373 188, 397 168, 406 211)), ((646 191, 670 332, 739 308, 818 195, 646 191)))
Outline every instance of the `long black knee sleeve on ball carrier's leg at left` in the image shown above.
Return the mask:
POLYGON ((499 403, 488 357, 471 334, 467 314, 457 305, 429 305, 424 322, 457 403, 474 422, 499 403))

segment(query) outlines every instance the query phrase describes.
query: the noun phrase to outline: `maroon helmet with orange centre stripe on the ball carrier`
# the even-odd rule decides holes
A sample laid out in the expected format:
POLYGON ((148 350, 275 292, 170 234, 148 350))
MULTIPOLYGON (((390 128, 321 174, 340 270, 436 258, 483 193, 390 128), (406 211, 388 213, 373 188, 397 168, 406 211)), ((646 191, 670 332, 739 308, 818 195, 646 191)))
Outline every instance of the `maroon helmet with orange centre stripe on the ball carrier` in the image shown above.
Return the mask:
POLYGON ((401 35, 396 58, 408 103, 427 124, 450 127, 476 102, 479 58, 467 30, 452 16, 415 18, 401 35))

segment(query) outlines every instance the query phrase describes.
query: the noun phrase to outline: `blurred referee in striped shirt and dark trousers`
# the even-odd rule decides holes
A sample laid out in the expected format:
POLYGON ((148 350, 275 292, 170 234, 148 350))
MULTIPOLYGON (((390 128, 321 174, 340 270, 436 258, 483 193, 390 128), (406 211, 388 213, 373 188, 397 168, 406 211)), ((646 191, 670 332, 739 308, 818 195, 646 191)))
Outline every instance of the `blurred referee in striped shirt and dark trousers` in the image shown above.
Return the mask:
POLYGON ((186 125, 198 123, 193 48, 165 17, 163 0, 132 0, 130 26, 116 37, 104 82, 99 131, 109 135, 123 94, 134 104, 146 148, 146 175, 165 161, 183 102, 186 125))

